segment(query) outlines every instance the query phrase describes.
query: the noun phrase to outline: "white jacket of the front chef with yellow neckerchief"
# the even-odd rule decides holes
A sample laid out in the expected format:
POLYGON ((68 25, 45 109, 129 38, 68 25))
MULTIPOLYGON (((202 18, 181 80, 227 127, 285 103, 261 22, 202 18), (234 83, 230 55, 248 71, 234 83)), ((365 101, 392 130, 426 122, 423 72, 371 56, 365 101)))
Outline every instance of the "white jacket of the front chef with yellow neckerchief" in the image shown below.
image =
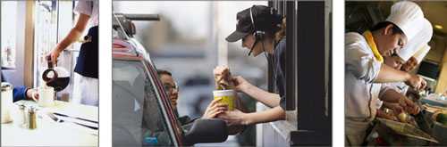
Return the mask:
POLYGON ((383 87, 373 83, 382 63, 375 59, 365 37, 345 34, 345 113, 346 118, 370 122, 375 118, 383 87))

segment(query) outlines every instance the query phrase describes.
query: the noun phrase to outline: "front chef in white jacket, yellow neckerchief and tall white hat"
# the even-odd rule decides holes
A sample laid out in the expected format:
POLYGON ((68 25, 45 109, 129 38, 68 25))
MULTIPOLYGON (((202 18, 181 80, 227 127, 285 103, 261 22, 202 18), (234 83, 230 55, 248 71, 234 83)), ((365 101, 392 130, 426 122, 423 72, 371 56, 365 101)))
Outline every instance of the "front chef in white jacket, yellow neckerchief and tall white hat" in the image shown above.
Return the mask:
POLYGON ((384 65, 384 56, 401 50, 421 29, 424 14, 412 2, 392 5, 390 16, 363 34, 345 34, 345 143, 361 145, 375 118, 381 83, 406 82, 421 89, 426 82, 384 65))

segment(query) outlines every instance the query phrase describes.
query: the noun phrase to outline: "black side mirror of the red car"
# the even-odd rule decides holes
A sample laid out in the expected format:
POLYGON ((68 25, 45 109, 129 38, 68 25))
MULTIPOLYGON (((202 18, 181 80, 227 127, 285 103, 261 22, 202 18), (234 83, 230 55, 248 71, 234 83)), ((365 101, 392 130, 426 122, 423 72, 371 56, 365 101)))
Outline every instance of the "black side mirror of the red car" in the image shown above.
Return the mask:
POLYGON ((185 134, 187 144, 222 143, 228 138, 228 128, 225 121, 219 118, 194 121, 190 130, 185 134))

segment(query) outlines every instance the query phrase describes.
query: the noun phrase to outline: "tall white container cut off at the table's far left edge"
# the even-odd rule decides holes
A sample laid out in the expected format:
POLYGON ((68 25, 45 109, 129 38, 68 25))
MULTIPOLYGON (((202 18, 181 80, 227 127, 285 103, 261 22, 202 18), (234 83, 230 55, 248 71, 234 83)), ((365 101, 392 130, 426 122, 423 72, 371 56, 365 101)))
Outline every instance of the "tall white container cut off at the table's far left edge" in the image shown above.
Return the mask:
POLYGON ((1 86, 2 124, 5 124, 13 122, 13 118, 11 117, 11 108, 13 107, 13 85, 2 82, 1 86))

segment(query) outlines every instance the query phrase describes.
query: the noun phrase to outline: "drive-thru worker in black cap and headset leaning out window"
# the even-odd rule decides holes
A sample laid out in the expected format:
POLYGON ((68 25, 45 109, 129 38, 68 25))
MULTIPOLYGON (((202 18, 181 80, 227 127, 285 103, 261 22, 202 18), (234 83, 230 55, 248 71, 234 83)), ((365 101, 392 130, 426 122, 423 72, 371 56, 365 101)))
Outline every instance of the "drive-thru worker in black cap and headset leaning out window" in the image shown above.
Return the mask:
MULTIPOLYGON (((254 125, 285 118, 285 19, 277 14, 272 7, 253 5, 237 13, 238 23, 236 31, 226 37, 228 42, 242 39, 242 47, 249 49, 249 55, 257 56, 261 53, 273 55, 274 83, 279 94, 266 92, 251 85, 241 77, 234 77, 232 83, 236 91, 248 94, 258 102, 262 102, 272 109, 245 113, 240 110, 228 110, 220 113, 217 118, 223 118, 231 125, 254 125)), ((267 57, 267 60, 271 60, 267 57)), ((216 69, 227 68, 217 67, 216 69)), ((220 69, 225 71, 225 69, 220 69)), ((228 75, 228 74, 227 74, 228 75)), ((215 73, 219 77, 219 73, 215 73)))

